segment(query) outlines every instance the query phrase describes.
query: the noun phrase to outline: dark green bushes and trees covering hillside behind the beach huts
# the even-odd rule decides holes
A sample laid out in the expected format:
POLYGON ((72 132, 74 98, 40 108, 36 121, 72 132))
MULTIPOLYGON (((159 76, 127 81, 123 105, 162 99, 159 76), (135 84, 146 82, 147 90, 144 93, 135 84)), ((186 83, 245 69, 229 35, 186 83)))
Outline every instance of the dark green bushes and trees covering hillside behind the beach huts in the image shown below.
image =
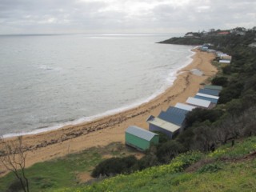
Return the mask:
POLYGON ((248 30, 244 35, 225 36, 216 35, 218 32, 195 38, 171 38, 165 41, 174 43, 179 39, 178 43, 207 43, 213 49, 232 55, 233 59, 229 66, 213 62, 219 71, 217 76, 211 79, 211 83, 223 86, 218 106, 212 110, 195 109, 187 114, 185 131, 171 141, 163 139, 164 142, 152 147, 144 158, 134 159, 132 166, 127 162, 125 166, 120 166, 121 169, 123 167, 122 170, 116 171, 115 167, 110 169, 110 166, 119 165, 120 160, 108 159, 99 165, 101 171, 98 170, 99 166, 96 166, 94 173, 98 174, 93 174, 94 177, 131 173, 149 166, 169 163, 180 153, 190 150, 214 151, 216 147, 228 141, 256 134, 256 49, 249 46, 254 41, 256 31, 248 30))

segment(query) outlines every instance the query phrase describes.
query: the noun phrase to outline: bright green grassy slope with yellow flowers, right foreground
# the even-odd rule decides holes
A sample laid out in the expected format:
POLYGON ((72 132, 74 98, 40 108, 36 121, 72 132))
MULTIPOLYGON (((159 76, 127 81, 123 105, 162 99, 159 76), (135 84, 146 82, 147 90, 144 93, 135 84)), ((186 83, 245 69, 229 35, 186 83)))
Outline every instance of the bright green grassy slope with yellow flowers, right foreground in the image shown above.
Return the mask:
MULTIPOLYGON (((218 148, 214 153, 181 154, 169 165, 154 166, 129 175, 118 175, 102 182, 81 187, 68 187, 55 192, 84 191, 255 191, 256 158, 242 159, 256 150, 256 137, 236 141, 218 148), (223 161, 229 158, 229 161, 223 161), (197 170, 187 172, 186 166, 203 162, 197 170), (239 159, 237 162, 232 159, 239 159)), ((192 165, 194 166, 194 165, 192 165)), ((188 169, 189 170, 189 169, 188 169)))

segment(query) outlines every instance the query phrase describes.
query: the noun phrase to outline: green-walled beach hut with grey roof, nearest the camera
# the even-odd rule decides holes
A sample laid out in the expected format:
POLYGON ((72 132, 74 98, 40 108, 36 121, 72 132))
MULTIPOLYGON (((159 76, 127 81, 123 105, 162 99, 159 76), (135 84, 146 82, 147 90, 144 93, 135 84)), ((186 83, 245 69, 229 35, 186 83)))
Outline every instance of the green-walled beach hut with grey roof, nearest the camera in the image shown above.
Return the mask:
POLYGON ((150 148, 150 145, 158 145, 159 135, 138 126, 129 126, 126 129, 126 145, 132 146, 138 150, 144 151, 150 148))

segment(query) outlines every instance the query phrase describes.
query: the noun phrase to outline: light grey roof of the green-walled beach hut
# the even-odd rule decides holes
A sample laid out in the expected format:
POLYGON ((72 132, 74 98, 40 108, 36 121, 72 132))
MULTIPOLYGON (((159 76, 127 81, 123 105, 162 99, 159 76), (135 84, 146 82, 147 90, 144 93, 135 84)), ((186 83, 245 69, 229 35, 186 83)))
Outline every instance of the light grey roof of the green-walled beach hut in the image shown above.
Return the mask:
POLYGON ((145 139, 146 141, 150 141, 155 135, 158 135, 150 132, 149 130, 144 130, 138 126, 129 126, 126 129, 126 133, 134 134, 139 138, 145 139))

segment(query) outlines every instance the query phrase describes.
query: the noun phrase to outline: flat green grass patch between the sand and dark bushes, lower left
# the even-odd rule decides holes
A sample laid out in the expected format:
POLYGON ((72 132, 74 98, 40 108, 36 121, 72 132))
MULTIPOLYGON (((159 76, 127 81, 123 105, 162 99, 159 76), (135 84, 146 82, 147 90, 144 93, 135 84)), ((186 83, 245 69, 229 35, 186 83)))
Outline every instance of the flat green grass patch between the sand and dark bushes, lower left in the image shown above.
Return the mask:
MULTIPOLYGON (((69 154, 64 158, 36 163, 26 169, 26 175, 30 181, 30 191, 51 191, 62 187, 79 186, 81 182, 84 182, 79 178, 79 174, 89 175, 105 155, 123 157, 134 154, 134 152, 135 150, 122 143, 115 142, 104 147, 93 147, 79 154, 69 154)), ((6 191, 14 180, 14 175, 11 173, 0 178, 0 192, 6 191)))

